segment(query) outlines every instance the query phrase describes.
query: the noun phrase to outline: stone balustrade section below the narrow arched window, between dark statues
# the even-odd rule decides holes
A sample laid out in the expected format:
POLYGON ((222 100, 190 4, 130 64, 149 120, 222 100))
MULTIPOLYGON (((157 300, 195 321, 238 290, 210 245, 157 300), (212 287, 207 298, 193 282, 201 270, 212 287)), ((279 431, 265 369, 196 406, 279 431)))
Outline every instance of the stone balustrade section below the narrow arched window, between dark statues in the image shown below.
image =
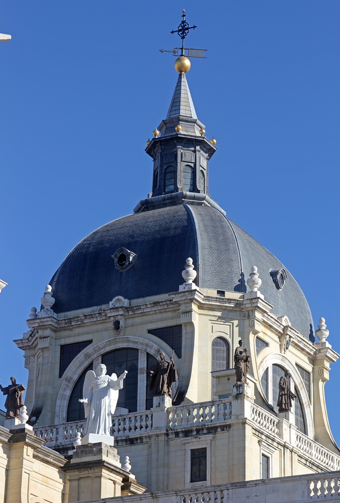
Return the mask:
POLYGON ((197 426, 226 421, 231 418, 231 400, 216 400, 168 409, 168 427, 197 426))

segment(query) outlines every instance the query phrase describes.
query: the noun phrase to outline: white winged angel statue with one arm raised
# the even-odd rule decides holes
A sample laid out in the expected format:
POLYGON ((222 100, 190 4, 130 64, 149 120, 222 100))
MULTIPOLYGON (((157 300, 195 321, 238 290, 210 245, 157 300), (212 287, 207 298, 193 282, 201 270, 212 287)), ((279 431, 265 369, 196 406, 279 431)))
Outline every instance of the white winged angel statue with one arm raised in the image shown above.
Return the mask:
POLYGON ((110 436, 111 415, 116 410, 119 390, 123 389, 126 374, 127 370, 118 379, 116 374, 110 377, 106 375, 106 366, 102 363, 98 365, 96 373, 93 370, 87 372, 82 388, 84 398, 79 399, 84 404, 87 418, 84 436, 110 436))

